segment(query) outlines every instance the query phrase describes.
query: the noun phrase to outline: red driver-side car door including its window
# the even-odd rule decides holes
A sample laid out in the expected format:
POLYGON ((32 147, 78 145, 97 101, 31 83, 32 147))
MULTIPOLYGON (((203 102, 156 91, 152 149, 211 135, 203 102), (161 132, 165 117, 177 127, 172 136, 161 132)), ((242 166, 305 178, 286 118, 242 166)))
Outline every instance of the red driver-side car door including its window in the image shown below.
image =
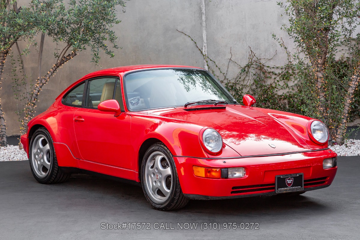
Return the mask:
POLYGON ((114 117, 114 113, 98 110, 98 104, 109 99, 118 100, 124 109, 118 78, 87 80, 83 108, 74 113, 77 146, 84 160, 131 169, 131 116, 114 117))

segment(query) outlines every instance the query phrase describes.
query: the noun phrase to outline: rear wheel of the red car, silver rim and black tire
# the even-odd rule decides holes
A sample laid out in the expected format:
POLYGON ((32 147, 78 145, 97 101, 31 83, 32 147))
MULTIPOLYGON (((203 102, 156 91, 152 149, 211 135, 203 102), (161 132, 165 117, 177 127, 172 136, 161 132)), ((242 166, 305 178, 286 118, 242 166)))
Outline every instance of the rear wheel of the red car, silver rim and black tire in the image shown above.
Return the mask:
POLYGON ((63 173, 59 168, 53 139, 48 130, 44 127, 37 129, 31 138, 29 146, 29 163, 32 175, 36 181, 41 184, 64 182, 68 180, 71 175, 63 173), (42 149, 46 150, 42 151, 42 149), (43 163, 46 164, 46 166, 43 163))

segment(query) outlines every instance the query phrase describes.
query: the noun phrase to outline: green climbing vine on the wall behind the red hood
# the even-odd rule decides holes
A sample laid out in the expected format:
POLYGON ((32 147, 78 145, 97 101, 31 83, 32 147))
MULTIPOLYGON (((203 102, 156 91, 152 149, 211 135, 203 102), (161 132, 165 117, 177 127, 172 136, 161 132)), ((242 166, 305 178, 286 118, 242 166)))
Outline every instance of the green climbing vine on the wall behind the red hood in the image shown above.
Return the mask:
MULTIPOLYGON (((179 31, 180 32, 180 31, 179 31)), ((238 102, 242 102, 245 94, 253 95, 256 106, 261 108, 271 108, 317 118, 323 120, 329 127, 330 136, 336 141, 336 134, 339 125, 343 121, 342 116, 344 99, 348 94, 348 85, 351 81, 352 70, 349 67, 350 59, 335 59, 335 55, 330 56, 330 61, 324 69, 326 83, 324 93, 327 100, 327 119, 319 112, 319 91, 316 90, 316 81, 312 65, 300 57, 300 54, 291 54, 281 39, 273 38, 279 42, 287 55, 287 62, 282 66, 270 65, 273 58, 258 58, 249 48, 247 63, 240 65, 233 60, 233 53, 230 49, 230 57, 226 69, 222 69, 210 56, 205 55, 199 48, 197 42, 188 36, 195 47, 206 60, 208 69, 212 74, 231 92, 238 102), (229 77, 230 68, 237 68, 236 76, 229 77)), ((276 53, 275 53, 276 54, 276 53)), ((356 59, 352 59, 352 64, 356 64, 356 59), (355 63, 354 63, 355 62, 355 63)), ((356 88, 354 97, 351 101, 351 108, 348 119, 360 118, 360 91, 356 88)), ((344 140, 345 132, 343 133, 344 140)), ((339 142, 341 143, 341 142, 339 142)))

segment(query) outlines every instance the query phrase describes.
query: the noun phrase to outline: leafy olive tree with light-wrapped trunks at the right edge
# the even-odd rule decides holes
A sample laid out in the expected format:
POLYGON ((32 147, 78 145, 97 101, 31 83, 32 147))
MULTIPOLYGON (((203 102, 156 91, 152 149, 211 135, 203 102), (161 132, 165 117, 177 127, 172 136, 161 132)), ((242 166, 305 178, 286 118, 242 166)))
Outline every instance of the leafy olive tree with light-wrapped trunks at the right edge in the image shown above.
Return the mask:
POLYGON ((312 87, 316 103, 312 117, 327 123, 333 141, 342 143, 359 85, 360 1, 287 0, 278 5, 289 20, 282 28, 310 66, 305 85, 312 87))

